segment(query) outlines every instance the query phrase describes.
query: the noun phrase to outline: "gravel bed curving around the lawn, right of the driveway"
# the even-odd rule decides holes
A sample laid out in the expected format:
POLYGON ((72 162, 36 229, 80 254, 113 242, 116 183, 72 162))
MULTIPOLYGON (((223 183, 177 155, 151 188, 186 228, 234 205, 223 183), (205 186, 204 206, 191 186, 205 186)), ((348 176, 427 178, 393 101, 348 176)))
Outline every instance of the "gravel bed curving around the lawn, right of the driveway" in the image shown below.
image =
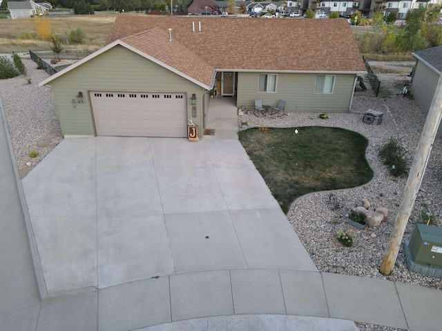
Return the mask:
MULTIPOLYGON (((378 74, 378 76, 382 81, 381 88, 394 86, 394 83, 403 77, 401 74, 378 74)), ((365 81, 365 85, 369 88, 368 81, 365 81)), ((397 90, 397 93, 399 92, 400 89, 397 90)), ((392 274, 385 276, 378 271, 407 181, 407 178, 390 175, 387 166, 378 157, 378 152, 390 137, 398 137, 407 150, 411 165, 425 123, 425 113, 410 95, 402 98, 392 94, 386 99, 381 99, 375 97, 369 88, 365 92, 355 93, 350 114, 329 113, 327 115, 329 119, 319 119, 319 113, 289 113, 282 117, 256 117, 253 114, 244 114, 238 117, 238 125, 242 121, 247 121, 249 127, 293 127, 298 128, 298 134, 302 134, 303 126, 333 126, 354 130, 369 139, 367 159, 376 172, 373 181, 360 188, 334 192, 339 199, 342 199, 342 208, 336 209, 329 203, 330 192, 316 192, 297 199, 287 214, 311 259, 323 272, 389 279, 442 290, 441 279, 426 277, 407 270, 403 247, 398 253, 392 274), (383 112, 381 125, 363 123, 363 114, 369 109, 383 112), (363 199, 368 199, 375 208, 388 208, 387 220, 379 226, 364 230, 348 225, 345 218, 349 210, 362 205, 363 199), (346 248, 338 243, 336 240, 338 230, 351 232, 354 235, 352 248, 346 248)), ((327 148, 333 148, 333 141, 329 142, 327 148)), ((404 240, 410 239, 415 223, 422 222, 421 212, 434 215, 434 225, 441 226, 441 148, 441 134, 438 134, 423 177, 421 190, 405 230, 404 240)))

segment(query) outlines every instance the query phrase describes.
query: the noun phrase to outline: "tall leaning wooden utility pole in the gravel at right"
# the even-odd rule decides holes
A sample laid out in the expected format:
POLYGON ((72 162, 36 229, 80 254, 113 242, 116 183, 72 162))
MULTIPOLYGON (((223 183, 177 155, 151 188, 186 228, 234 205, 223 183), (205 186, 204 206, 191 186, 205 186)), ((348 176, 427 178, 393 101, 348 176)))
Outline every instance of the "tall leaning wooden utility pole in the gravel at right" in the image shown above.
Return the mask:
POLYGON ((398 214, 394 220, 393 230, 390 234, 390 239, 387 243, 387 249, 385 250, 384 257, 381 263, 382 274, 390 274, 398 255, 399 247, 403 238, 403 232, 405 232, 405 226, 412 212, 414 201, 421 187, 421 182, 425 168, 427 168, 428 158, 434 138, 436 137, 437 129, 442 117, 442 74, 439 77, 437 83, 436 92, 434 92, 433 101, 430 106, 430 110, 427 114, 427 120, 423 126, 421 139, 414 154, 412 166, 410 168, 410 174, 408 175, 407 185, 403 192, 402 202, 399 205, 398 214))

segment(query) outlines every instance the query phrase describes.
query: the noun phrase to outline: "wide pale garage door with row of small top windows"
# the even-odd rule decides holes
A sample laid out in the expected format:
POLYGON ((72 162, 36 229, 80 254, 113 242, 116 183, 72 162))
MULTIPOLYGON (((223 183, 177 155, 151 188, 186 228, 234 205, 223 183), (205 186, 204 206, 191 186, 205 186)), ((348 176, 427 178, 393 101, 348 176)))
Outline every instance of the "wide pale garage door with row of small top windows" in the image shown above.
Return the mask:
POLYGON ((186 94, 91 92, 99 136, 186 137, 186 94))

